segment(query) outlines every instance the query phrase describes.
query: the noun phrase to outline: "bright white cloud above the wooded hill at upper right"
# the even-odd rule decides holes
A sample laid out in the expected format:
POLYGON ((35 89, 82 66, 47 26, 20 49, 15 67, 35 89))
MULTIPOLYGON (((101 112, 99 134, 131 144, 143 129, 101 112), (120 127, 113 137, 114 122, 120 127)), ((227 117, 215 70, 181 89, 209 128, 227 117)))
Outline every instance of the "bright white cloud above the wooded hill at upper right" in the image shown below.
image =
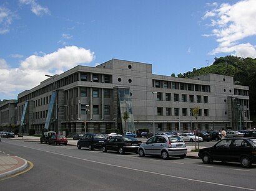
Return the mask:
POLYGON ((224 3, 212 11, 205 12, 202 19, 211 19, 211 26, 214 27, 211 35, 215 35, 219 43, 210 54, 225 52, 239 57, 255 57, 255 46, 250 42, 240 42, 256 35, 255 18, 255 0, 243 0, 233 5, 224 3))

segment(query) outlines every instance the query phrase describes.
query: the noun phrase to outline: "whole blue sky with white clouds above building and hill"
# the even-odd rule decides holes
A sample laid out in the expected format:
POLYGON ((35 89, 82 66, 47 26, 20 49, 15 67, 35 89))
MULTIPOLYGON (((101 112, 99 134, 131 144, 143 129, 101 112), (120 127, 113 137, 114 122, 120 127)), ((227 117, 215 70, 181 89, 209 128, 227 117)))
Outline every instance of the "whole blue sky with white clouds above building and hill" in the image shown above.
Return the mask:
POLYGON ((0 100, 112 58, 176 76, 255 58, 255 21, 255 0, 0 0, 0 100))

